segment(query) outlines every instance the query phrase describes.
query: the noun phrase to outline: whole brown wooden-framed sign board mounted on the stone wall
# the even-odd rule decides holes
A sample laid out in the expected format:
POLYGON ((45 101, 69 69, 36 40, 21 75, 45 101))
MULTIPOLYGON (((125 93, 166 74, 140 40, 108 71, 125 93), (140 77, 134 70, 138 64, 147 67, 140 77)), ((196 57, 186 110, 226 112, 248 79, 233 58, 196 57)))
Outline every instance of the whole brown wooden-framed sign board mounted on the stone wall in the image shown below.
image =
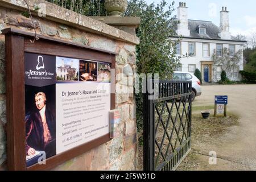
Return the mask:
POLYGON ((115 52, 6 28, 7 164, 47 170, 110 140, 115 52))

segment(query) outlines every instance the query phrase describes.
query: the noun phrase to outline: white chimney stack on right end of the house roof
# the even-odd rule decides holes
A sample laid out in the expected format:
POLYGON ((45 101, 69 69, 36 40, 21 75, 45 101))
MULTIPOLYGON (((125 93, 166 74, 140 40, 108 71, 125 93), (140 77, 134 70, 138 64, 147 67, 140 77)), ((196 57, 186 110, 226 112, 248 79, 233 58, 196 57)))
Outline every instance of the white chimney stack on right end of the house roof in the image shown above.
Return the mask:
POLYGON ((229 32, 229 11, 226 7, 222 7, 220 11, 220 34, 221 39, 231 39, 231 33, 229 32))

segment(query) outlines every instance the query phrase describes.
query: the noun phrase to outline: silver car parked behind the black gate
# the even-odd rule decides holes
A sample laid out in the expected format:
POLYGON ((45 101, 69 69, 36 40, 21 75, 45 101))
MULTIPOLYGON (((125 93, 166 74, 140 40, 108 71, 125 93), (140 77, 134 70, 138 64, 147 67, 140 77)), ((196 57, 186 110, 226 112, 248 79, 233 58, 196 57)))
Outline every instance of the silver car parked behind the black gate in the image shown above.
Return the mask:
POLYGON ((179 81, 192 81, 192 101, 194 101, 197 96, 201 96, 201 82, 193 73, 174 72, 173 79, 179 81))

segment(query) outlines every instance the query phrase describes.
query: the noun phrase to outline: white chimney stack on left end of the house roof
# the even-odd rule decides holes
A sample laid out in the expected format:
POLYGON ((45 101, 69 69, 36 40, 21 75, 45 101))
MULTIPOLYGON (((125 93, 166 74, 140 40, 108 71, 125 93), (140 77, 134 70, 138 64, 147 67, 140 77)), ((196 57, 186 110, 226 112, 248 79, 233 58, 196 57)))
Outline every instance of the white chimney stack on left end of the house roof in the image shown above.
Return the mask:
POLYGON ((179 7, 177 8, 177 31, 178 35, 189 36, 190 31, 188 30, 188 8, 186 3, 180 2, 179 7))

